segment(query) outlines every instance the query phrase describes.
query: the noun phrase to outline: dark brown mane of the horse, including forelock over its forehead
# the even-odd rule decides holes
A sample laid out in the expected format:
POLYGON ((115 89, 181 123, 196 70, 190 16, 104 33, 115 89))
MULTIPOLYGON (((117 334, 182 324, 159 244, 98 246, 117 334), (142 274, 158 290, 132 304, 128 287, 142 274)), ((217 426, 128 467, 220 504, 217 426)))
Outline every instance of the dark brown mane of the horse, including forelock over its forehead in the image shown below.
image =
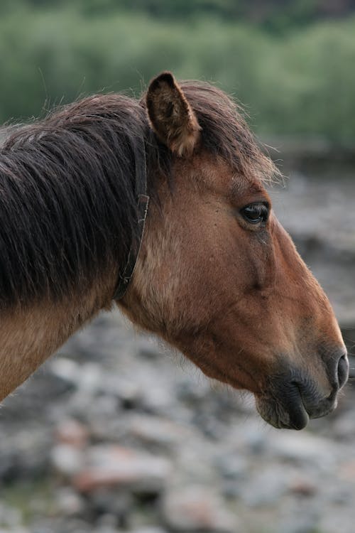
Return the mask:
MULTIPOLYGON (((202 126, 202 146, 241 174, 275 171, 224 93, 182 82, 202 126)), ((0 308, 59 301, 119 271, 136 231, 138 145, 146 144, 148 194, 169 178, 171 155, 149 128, 141 102, 94 95, 45 119, 0 131, 0 308)))

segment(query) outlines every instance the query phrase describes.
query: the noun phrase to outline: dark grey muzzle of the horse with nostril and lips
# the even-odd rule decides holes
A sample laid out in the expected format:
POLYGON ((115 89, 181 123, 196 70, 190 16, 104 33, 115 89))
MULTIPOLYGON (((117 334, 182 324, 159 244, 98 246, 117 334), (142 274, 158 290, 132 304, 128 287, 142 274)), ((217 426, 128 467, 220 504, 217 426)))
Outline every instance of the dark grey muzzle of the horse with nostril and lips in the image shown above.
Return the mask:
POLYGON ((341 350, 327 365, 329 394, 322 394, 317 381, 307 372, 293 369, 269 381, 265 392, 256 395, 256 408, 275 428, 303 429, 310 419, 325 416, 337 407, 337 394, 348 376, 348 358, 341 350))

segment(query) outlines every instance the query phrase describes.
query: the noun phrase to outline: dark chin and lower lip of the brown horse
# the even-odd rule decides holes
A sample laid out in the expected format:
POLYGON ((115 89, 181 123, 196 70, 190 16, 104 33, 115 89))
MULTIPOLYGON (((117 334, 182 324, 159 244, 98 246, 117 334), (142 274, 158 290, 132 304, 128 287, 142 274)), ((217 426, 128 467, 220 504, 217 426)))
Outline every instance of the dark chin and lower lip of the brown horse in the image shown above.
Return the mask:
POLYGON ((274 397, 256 397, 256 409, 260 416, 277 429, 303 429, 310 416, 302 402, 300 394, 290 399, 274 397))

